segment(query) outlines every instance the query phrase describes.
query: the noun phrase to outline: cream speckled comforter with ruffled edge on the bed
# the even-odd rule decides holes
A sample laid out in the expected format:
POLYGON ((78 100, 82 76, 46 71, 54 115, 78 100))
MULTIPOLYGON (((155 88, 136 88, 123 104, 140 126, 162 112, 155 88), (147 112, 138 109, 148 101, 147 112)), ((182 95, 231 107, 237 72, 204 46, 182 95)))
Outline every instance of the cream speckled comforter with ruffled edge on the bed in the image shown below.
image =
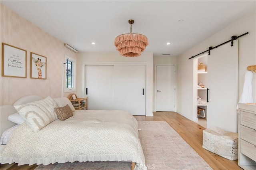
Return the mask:
POLYGON ((23 123, 0 155, 1 164, 132 161, 145 164, 137 121, 124 111, 76 110, 35 133, 23 123))

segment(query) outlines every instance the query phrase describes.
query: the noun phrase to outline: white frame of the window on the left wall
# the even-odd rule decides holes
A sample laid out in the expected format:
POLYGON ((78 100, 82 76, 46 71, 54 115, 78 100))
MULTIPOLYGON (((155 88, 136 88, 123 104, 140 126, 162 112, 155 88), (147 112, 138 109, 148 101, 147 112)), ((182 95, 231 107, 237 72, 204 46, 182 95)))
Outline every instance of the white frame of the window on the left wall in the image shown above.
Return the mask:
POLYGON ((67 93, 67 92, 74 92, 76 91, 76 59, 72 58, 72 57, 69 57, 68 55, 65 55, 65 85, 64 85, 64 93, 67 93), (66 85, 67 85, 67 60, 68 61, 71 61, 72 62, 72 71, 71 71, 71 75, 73 75, 73 87, 69 87, 67 88, 66 85), (73 74, 72 74, 73 73, 73 74))

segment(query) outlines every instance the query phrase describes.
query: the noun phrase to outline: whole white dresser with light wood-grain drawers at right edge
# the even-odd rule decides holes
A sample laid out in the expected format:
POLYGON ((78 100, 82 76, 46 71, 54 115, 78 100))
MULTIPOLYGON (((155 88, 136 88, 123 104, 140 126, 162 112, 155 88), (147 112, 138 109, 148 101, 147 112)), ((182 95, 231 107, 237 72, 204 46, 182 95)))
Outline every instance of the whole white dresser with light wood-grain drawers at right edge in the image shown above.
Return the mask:
POLYGON ((256 170, 256 105, 238 104, 238 165, 256 170))

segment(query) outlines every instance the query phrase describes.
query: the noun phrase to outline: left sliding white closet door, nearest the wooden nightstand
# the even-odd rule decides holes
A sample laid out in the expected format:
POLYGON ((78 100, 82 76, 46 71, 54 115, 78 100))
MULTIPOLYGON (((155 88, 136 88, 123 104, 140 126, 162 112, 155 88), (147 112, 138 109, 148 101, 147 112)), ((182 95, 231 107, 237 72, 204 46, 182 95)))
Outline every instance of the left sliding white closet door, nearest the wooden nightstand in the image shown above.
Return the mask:
POLYGON ((86 65, 88 109, 113 110, 114 65, 86 65))

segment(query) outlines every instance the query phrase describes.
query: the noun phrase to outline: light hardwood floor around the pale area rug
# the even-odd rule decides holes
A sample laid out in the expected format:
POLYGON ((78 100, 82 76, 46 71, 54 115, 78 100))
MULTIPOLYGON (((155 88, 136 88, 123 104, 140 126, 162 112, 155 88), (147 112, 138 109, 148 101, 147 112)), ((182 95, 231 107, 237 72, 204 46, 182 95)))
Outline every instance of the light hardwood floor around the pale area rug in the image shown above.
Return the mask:
MULTIPOLYGON (((204 127, 175 112, 154 112, 153 117, 134 116, 138 121, 166 121, 214 170, 242 170, 237 160, 222 158, 202 148, 204 127)), ((34 170, 37 166, 1 165, 1 170, 34 170)))

